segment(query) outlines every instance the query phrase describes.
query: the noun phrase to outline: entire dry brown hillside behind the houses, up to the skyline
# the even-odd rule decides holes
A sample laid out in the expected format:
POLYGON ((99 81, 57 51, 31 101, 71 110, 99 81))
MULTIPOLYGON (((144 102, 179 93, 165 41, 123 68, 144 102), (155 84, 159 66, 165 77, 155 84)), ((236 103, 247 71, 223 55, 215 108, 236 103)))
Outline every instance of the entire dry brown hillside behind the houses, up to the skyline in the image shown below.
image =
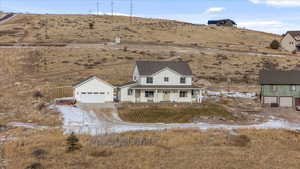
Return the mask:
POLYGON ((136 60, 184 60, 193 70, 195 84, 225 90, 230 79, 231 89, 242 92, 259 92, 261 69, 294 69, 300 63, 297 55, 266 48, 280 38, 277 35, 167 20, 134 20, 130 25, 129 18, 121 16, 18 14, 0 24, 1 121, 59 123, 57 114, 40 110, 49 96, 45 90, 72 86, 91 75, 112 84, 124 83, 131 79, 136 60), (45 19, 47 39, 41 24, 45 19), (89 29, 92 21, 94 28, 89 29), (118 34, 123 37, 121 44, 107 43, 118 34), (36 46, 11 46, 8 42, 36 46), (39 46, 41 42, 78 43, 55 47, 39 46), (34 97, 39 90, 42 99, 34 97))

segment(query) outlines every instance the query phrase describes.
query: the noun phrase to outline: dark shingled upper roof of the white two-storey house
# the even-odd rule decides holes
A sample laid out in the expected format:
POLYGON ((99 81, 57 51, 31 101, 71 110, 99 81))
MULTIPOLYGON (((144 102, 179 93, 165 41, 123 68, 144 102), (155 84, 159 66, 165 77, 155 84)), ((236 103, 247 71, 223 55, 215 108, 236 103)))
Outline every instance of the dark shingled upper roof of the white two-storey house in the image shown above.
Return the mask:
POLYGON ((187 62, 168 61, 168 62, 153 62, 153 61, 137 61, 137 68, 140 75, 149 76, 159 72, 162 69, 169 68, 181 75, 192 76, 192 70, 187 62))

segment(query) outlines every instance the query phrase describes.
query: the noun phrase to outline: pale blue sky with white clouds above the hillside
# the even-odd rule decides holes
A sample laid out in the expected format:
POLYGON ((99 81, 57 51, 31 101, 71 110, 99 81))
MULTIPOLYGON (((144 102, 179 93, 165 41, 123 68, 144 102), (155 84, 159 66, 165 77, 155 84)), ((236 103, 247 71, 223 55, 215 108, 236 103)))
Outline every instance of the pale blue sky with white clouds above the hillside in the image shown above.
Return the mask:
MULTIPOLYGON (((99 0, 101 13, 130 14, 130 0, 99 0)), ((206 24, 233 19, 238 27, 283 34, 300 30, 300 0, 132 0, 133 14, 206 24)), ((95 14, 97 0, 0 0, 8 12, 95 14)))

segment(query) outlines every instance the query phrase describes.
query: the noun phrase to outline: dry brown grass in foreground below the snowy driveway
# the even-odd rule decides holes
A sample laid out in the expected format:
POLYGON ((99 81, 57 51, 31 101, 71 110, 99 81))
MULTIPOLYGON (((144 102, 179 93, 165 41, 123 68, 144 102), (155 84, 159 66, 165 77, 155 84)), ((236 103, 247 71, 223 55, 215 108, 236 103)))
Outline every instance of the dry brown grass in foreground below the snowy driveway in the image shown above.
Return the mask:
MULTIPOLYGON (((90 136, 79 136, 83 148, 66 153, 65 139, 58 131, 28 133, 5 145, 8 169, 23 169, 40 163, 57 168, 201 168, 201 169, 296 169, 300 165, 300 134, 284 130, 225 131, 170 130, 113 134, 111 138, 155 138, 152 144, 95 146, 90 136), (36 151, 42 150, 41 153, 36 151)), ((108 136, 103 136, 105 138, 108 136)), ((100 137, 101 139, 101 137, 100 137)), ((117 141, 119 142, 119 141, 117 141)))

